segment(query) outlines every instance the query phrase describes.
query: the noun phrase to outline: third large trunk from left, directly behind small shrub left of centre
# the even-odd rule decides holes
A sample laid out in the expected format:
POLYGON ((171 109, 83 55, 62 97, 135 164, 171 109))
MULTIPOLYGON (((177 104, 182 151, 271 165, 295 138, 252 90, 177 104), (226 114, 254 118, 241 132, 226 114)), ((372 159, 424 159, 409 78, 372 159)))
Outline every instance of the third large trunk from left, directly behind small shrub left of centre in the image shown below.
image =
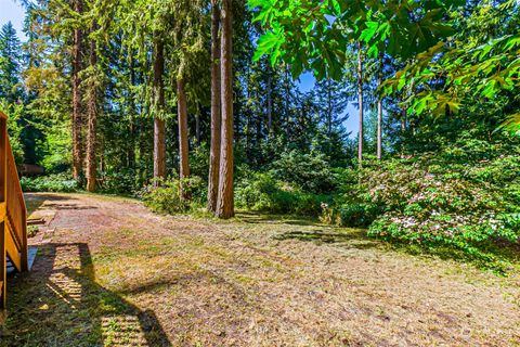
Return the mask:
POLYGON ((162 39, 155 34, 155 59, 154 59, 154 179, 166 177, 166 121, 165 111, 165 44, 162 39))

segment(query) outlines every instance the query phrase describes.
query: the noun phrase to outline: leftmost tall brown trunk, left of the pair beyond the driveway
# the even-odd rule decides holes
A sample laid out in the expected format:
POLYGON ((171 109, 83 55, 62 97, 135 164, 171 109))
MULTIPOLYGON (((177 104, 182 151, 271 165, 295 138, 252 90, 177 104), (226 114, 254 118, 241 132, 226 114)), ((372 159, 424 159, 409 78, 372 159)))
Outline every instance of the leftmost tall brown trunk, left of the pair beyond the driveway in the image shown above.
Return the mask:
MULTIPOLYGON (((83 12, 82 0, 75 1, 75 11, 78 14, 83 12)), ((79 73, 81 70, 83 33, 77 28, 74 30, 73 46, 73 178, 78 180, 81 176, 83 165, 83 151, 81 139, 81 80, 79 73)))

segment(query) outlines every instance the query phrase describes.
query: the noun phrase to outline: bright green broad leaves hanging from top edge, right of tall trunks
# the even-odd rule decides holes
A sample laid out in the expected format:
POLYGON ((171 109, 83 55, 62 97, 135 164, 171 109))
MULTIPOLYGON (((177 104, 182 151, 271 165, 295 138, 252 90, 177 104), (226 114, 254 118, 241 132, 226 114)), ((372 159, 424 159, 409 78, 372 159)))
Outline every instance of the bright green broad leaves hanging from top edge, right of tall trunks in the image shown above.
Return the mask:
POLYGON ((260 37, 255 59, 268 54, 291 66, 295 77, 313 70, 318 79, 339 80, 352 42, 363 41, 368 54, 385 49, 408 59, 453 34, 446 22, 450 9, 463 1, 269 1, 249 0, 260 37))

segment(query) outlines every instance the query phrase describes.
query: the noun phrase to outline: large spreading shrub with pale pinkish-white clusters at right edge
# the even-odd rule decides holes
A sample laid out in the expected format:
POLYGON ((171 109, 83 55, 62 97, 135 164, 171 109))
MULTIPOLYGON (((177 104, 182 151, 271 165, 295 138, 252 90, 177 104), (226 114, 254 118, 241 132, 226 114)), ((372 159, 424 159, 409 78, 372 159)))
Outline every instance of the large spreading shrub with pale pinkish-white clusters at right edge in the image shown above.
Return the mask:
POLYGON ((484 267, 489 249, 520 237, 518 146, 464 139, 438 153, 375 163, 341 175, 343 191, 322 219, 424 247, 452 247, 484 267))

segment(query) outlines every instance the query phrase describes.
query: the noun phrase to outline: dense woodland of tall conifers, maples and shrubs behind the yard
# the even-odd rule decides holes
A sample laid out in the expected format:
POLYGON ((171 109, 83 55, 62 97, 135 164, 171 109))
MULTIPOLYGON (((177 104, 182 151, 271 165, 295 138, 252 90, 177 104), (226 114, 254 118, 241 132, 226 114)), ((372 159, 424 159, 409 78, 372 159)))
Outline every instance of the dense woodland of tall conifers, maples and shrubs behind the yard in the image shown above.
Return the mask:
POLYGON ((23 3, 0 108, 44 168, 27 191, 318 217, 493 267, 518 243, 518 1, 23 3))

